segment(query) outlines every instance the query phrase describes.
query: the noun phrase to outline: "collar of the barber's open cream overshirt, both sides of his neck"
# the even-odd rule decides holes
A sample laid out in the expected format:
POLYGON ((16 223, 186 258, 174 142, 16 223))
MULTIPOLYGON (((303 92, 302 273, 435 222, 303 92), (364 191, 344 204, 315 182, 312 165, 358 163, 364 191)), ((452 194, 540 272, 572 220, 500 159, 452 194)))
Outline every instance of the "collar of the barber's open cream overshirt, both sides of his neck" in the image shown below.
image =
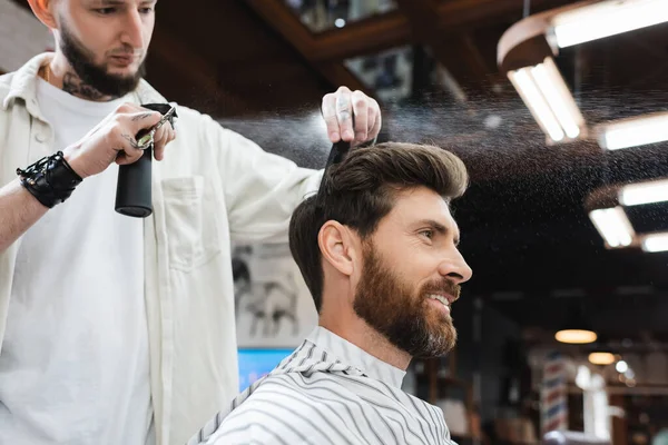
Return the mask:
MULTIPOLYGON (((9 87, 9 93, 2 101, 2 108, 4 110, 7 110, 14 99, 20 98, 26 101, 26 108, 28 109, 28 112, 37 117, 40 116, 37 107, 37 75, 39 69, 43 65, 50 62, 52 58, 53 52, 45 52, 35 56, 14 72, 9 87)), ((167 101, 144 79, 139 81, 134 96, 136 103, 167 101)))

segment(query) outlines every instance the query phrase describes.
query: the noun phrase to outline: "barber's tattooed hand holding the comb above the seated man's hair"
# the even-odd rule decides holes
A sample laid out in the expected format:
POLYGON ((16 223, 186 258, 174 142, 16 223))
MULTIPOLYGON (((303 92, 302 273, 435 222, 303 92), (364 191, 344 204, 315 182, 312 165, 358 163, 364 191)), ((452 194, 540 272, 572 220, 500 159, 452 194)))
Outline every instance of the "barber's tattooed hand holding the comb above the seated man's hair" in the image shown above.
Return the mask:
POLYGON ((332 142, 344 140, 357 146, 379 136, 381 108, 379 102, 362 91, 341 87, 323 98, 323 117, 332 142), (355 128, 353 128, 353 113, 355 128))

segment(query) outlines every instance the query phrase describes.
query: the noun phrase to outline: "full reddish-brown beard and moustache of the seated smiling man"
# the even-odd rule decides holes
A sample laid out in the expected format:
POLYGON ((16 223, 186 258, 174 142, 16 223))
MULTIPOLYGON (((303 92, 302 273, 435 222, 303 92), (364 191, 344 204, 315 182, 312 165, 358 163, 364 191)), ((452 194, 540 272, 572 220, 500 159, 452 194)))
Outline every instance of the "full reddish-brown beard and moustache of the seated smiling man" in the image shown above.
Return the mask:
MULTIPOLYGON (((456 298, 460 287, 443 278, 424 285, 418 294, 373 249, 364 246, 364 267, 353 308, 372 328, 412 357, 445 355, 456 343, 450 315, 430 307, 429 295, 446 293, 456 298)), ((439 303, 441 304, 441 303, 439 303)))

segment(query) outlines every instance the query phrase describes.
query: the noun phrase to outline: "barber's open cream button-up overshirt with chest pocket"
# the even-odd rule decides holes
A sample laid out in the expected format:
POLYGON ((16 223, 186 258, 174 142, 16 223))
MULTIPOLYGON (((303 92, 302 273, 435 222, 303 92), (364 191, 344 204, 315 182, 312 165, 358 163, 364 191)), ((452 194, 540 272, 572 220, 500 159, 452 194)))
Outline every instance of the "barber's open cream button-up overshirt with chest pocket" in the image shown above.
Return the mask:
MULTIPOLYGON (((37 72, 51 57, 0 76, 0 187, 16 179, 17 167, 57 150, 37 99, 37 72)), ((130 97, 167 101, 146 81, 130 97)), ((232 240, 286 243, 293 209, 322 178, 322 170, 299 168, 176 106, 178 137, 153 164, 154 212, 143 221, 158 445, 183 445, 238 394, 232 240)), ((0 251, 0 356, 21 243, 0 251)))

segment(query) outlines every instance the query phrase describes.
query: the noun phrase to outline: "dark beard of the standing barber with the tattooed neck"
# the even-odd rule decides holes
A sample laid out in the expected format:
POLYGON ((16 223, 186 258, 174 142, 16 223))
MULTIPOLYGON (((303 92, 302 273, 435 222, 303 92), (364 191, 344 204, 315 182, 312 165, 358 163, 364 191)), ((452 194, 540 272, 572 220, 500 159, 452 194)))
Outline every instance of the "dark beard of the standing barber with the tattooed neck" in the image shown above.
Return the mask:
MULTIPOLYGON (((65 22, 61 20, 61 23, 65 22)), ((146 66, 143 61, 135 75, 110 75, 106 65, 96 65, 95 55, 65 24, 60 30, 60 49, 81 82, 102 96, 119 98, 134 91, 146 73, 146 66)), ((128 52, 131 51, 130 48, 128 52)))

